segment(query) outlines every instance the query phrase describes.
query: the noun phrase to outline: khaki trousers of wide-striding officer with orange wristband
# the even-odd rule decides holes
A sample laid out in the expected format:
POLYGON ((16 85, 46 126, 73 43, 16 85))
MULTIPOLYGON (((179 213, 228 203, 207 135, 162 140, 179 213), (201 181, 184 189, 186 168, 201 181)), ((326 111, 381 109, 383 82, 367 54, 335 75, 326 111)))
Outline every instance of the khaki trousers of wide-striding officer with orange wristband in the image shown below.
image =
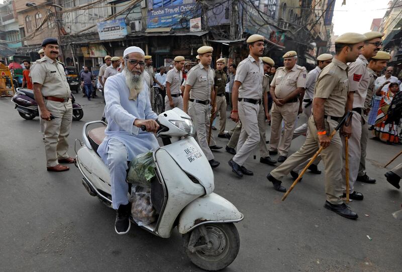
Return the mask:
MULTIPOLYGON (((327 135, 330 135, 337 125, 336 121, 327 118, 325 120, 327 135)), ((309 119, 309 134, 303 146, 271 171, 270 174, 280 180, 283 176, 290 173, 294 167, 313 157, 319 148, 320 142, 318 140, 317 128, 314 118, 311 116, 309 119)), ((342 161, 342 141, 339 133, 334 135, 330 145, 321 152, 321 157, 325 165, 325 194, 327 201, 335 205, 342 204, 343 179, 341 171, 343 165, 339 163, 342 161)))

